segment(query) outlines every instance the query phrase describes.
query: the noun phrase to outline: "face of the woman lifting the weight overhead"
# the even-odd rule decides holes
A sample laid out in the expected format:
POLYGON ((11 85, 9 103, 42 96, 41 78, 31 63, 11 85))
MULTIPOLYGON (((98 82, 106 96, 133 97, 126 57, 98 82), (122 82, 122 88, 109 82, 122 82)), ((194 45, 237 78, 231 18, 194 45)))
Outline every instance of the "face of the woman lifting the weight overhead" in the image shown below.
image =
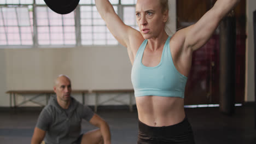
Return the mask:
POLYGON ((144 39, 158 37, 164 31, 168 11, 162 14, 159 0, 138 0, 136 4, 136 21, 144 39))

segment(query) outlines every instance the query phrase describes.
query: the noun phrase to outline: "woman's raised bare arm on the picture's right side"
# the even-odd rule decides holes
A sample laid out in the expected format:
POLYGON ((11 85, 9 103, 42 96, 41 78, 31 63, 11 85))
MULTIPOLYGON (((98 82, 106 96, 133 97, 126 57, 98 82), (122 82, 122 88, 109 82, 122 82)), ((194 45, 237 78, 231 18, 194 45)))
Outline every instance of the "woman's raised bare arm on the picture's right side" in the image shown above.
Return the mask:
POLYGON ((218 27, 219 22, 240 0, 218 0, 194 25, 181 29, 184 34, 184 48, 192 51, 204 45, 218 27))

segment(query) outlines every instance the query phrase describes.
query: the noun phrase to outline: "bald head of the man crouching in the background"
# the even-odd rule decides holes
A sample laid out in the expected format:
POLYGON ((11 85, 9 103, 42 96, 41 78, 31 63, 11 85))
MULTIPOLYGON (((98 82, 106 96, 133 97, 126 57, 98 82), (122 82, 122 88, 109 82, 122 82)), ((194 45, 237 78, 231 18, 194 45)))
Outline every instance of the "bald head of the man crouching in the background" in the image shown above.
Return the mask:
POLYGON ((58 101, 69 101, 71 94, 71 80, 66 75, 59 75, 55 80, 54 92, 58 101))

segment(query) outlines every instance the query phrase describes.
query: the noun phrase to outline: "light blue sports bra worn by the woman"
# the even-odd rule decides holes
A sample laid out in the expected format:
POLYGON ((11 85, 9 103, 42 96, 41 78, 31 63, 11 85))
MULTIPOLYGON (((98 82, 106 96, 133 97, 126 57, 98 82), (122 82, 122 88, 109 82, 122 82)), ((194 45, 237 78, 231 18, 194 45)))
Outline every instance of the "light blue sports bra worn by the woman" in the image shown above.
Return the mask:
POLYGON ((188 78, 179 73, 173 64, 170 38, 166 40, 161 61, 155 67, 146 67, 142 64, 142 56, 148 40, 144 40, 139 47, 131 71, 135 97, 157 95, 184 98, 188 78))

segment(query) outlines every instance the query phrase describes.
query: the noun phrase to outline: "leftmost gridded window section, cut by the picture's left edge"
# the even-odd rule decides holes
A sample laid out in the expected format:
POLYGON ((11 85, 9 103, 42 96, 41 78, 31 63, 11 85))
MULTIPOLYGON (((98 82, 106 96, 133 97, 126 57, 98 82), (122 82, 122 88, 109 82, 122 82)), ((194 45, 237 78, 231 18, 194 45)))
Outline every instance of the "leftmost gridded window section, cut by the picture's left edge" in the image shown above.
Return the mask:
POLYGON ((0 9, 1 31, 3 31, 0 32, 0 45, 33 45, 33 29, 31 29, 28 7, 1 7, 0 9))

